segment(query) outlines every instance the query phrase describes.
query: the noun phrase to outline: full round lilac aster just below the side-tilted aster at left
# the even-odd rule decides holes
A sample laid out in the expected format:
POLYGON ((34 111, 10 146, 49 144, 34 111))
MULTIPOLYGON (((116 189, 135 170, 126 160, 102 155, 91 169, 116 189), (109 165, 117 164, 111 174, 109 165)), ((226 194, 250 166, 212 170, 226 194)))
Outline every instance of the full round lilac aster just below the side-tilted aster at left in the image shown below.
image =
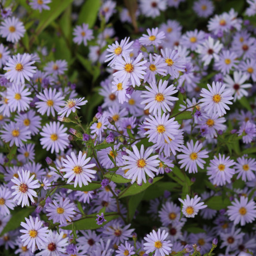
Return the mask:
POLYGON ((60 124, 59 122, 50 122, 42 127, 42 131, 40 135, 42 138, 40 139, 40 143, 42 148, 46 150, 51 149, 51 153, 54 151, 59 153, 59 151, 63 151, 68 146, 68 134, 67 127, 60 124))

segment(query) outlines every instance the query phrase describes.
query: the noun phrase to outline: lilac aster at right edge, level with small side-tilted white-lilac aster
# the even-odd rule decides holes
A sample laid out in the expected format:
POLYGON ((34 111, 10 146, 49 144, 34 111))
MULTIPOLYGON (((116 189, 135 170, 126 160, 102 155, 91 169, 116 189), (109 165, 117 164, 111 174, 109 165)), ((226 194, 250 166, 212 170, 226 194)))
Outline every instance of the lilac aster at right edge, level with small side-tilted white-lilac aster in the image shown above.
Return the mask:
POLYGON ((240 222, 241 226, 246 223, 252 223, 256 218, 256 205, 253 200, 248 202, 248 197, 241 196, 240 201, 237 198, 227 206, 227 215, 234 221, 234 225, 240 222))

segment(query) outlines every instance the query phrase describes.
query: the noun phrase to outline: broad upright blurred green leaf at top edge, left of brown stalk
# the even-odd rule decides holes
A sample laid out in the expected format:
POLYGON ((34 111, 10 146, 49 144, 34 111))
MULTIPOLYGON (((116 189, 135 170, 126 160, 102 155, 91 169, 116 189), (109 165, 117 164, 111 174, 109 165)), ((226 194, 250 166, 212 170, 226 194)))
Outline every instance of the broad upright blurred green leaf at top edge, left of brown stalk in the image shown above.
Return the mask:
POLYGON ((80 10, 78 24, 87 23, 89 28, 96 22, 101 0, 87 0, 80 10))

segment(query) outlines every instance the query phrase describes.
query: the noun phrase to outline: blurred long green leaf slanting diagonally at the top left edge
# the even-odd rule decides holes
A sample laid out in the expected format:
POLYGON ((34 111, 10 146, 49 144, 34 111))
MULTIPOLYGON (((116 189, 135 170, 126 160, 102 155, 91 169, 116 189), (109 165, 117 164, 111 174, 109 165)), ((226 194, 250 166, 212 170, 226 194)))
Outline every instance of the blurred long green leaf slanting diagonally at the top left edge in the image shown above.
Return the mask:
POLYGON ((49 3, 50 11, 44 10, 39 17, 37 17, 40 22, 36 28, 36 34, 39 35, 46 27, 48 27, 50 23, 58 18, 72 2, 73 0, 54 0, 49 3))

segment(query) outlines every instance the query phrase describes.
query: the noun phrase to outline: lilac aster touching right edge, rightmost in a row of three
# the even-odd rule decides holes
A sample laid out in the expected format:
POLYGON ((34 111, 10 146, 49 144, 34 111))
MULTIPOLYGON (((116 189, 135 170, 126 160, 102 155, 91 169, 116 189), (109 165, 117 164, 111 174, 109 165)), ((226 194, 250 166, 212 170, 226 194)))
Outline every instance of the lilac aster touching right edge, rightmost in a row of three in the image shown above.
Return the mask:
POLYGON ((235 173, 238 174, 238 179, 241 177, 243 181, 252 181, 255 178, 256 162, 253 158, 239 157, 238 163, 235 163, 235 173))

